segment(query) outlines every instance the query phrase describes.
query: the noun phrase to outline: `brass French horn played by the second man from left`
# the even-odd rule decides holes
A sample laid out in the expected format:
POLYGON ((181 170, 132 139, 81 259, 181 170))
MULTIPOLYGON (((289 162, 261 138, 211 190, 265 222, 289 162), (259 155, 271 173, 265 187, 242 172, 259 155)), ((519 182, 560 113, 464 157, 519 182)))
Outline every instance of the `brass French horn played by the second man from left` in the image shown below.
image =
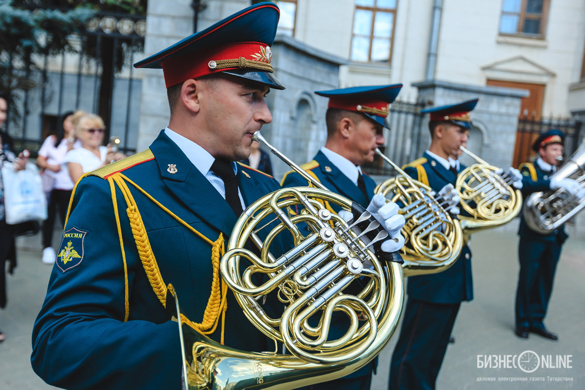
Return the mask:
POLYGON ((404 247, 400 254, 404 260, 405 276, 432 274, 449 268, 461 252, 463 234, 459 221, 452 219, 431 195, 431 187, 401 170, 380 149, 378 156, 398 171, 398 175, 378 184, 374 192, 397 203, 406 223, 401 233, 404 247))

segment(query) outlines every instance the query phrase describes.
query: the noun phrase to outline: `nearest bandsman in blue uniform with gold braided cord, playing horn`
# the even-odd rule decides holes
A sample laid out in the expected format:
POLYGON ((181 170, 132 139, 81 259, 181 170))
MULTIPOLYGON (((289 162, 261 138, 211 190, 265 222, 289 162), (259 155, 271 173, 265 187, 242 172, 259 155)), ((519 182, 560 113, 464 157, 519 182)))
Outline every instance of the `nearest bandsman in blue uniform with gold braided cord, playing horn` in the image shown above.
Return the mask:
MULTIPOLYGON (((233 250, 229 244, 232 234, 235 235, 234 227, 250 211, 246 209, 240 219, 238 216, 257 199, 269 196, 273 200, 271 194, 282 191, 274 178, 233 162, 249 156, 254 133, 271 121, 265 100, 270 88, 284 89, 270 65, 270 45, 278 15, 277 6, 271 2, 250 6, 135 64, 138 68, 163 69, 170 122, 150 149, 85 175, 74 189, 60 254, 32 336, 31 362, 47 383, 84 389, 180 389, 182 385, 204 389, 214 386, 214 381, 221 381, 221 387, 247 378, 259 388, 258 384, 269 379, 263 377, 266 370, 282 370, 291 362, 295 378, 279 374, 272 379, 281 381, 283 388, 291 388, 290 384, 297 380, 301 380, 299 385, 307 385, 319 375, 333 372, 331 375, 335 376, 340 370, 345 375, 357 370, 379 353, 393 333, 395 313, 400 310, 394 308, 394 314, 386 313, 381 304, 401 306, 400 299, 387 299, 370 288, 369 294, 377 298, 371 309, 366 304, 369 302, 364 302, 366 298, 334 292, 335 302, 342 299, 350 302, 342 305, 349 315, 356 316, 350 310, 354 306, 369 312, 370 327, 363 328, 363 334, 373 346, 364 347, 367 358, 359 354, 348 356, 346 371, 342 364, 333 365, 326 374, 319 374, 318 364, 294 360, 291 355, 269 367, 276 354, 262 352, 273 351, 274 343, 271 346, 267 334, 243 315, 236 293, 227 291, 226 282, 233 274, 223 273, 222 254, 224 250, 233 250), (180 316, 176 310, 173 312, 171 295, 181 301, 180 316), (198 364, 185 366, 185 358, 181 357, 183 340, 177 322, 170 320, 170 313, 180 317, 181 326, 194 330, 199 346, 205 344, 224 353, 210 359, 208 353, 202 353, 202 360, 197 363, 221 364, 226 354, 238 361, 250 363, 252 356, 259 360, 245 365, 250 370, 242 371, 241 366, 235 372, 229 370, 233 367, 229 361, 221 368, 214 366, 202 373, 198 372, 202 367, 198 364), (382 323, 386 319, 388 322, 382 323), (384 327, 380 333, 385 338, 377 337, 376 325, 384 327), (297 368, 301 371, 296 371, 297 368), (310 372, 302 374, 303 368, 310 372)), ((318 207, 300 190, 286 191, 282 202, 288 202, 292 194, 302 198, 308 207, 318 207)), ((331 198, 328 191, 321 190, 319 194, 331 198)), ((401 247, 394 241, 400 234, 400 218, 390 203, 383 216, 378 213, 379 206, 370 207, 371 215, 359 211, 358 216, 364 217, 366 224, 377 225, 374 233, 383 240, 382 250, 396 251, 401 247), (396 223, 398 226, 393 227, 397 231, 384 230, 396 223)), ((290 223, 282 213, 277 217, 290 223)), ((270 236, 266 248, 260 245, 262 252, 271 251, 266 256, 271 259, 267 266, 280 267, 282 262, 287 270, 296 263, 309 267, 312 257, 302 250, 295 251, 297 247, 291 249, 291 241, 294 239, 297 244, 297 240, 302 240, 306 249, 311 240, 318 243, 321 240, 323 243, 315 249, 319 254, 329 256, 335 250, 347 257, 349 252, 350 256, 376 263, 376 270, 361 272, 363 266, 356 257, 333 258, 330 262, 339 278, 349 282, 354 278, 376 277, 381 289, 392 287, 390 283, 380 285, 380 281, 388 272, 400 270, 399 266, 391 262, 381 266, 373 250, 356 233, 356 227, 347 226, 348 222, 327 212, 303 218, 322 227, 318 233, 324 238, 321 240, 314 233, 310 239, 302 240, 298 229, 289 226, 294 237, 270 236), (333 225, 343 230, 350 247, 340 242, 329 244, 338 234, 333 225), (291 259, 294 264, 289 264, 291 259)), ((262 232, 250 236, 254 243, 267 240, 262 232)), ((250 251, 253 256, 258 252, 250 251)), ((249 284, 255 281, 255 277, 247 279, 249 284)), ((314 284, 308 278, 300 278, 299 282, 314 284)), ((312 288, 325 295, 328 287, 324 284, 312 288)), ((401 298, 401 280, 394 287, 391 294, 401 298)), ((275 295, 276 291, 250 298, 250 304, 257 308, 255 313, 277 316, 283 304, 274 301, 275 295)), ((316 296, 318 302, 312 304, 317 305, 325 298, 316 296)), ((289 326, 293 322, 272 324, 289 326)), ((188 348, 187 353, 191 354, 188 348)), ((312 360, 339 361, 328 351, 322 354, 317 351, 312 360)))

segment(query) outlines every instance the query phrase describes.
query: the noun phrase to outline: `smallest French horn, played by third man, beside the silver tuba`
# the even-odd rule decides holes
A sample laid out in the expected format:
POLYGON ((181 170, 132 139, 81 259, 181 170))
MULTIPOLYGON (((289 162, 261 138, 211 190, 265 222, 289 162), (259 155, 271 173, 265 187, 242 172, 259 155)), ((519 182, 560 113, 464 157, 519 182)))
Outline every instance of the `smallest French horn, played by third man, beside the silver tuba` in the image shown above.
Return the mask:
POLYGON ((501 175, 500 168, 486 163, 463 146, 460 149, 477 161, 457 175, 455 185, 460 205, 470 215, 459 215, 463 232, 470 234, 510 222, 522 209, 522 193, 512 188, 513 178, 501 175))

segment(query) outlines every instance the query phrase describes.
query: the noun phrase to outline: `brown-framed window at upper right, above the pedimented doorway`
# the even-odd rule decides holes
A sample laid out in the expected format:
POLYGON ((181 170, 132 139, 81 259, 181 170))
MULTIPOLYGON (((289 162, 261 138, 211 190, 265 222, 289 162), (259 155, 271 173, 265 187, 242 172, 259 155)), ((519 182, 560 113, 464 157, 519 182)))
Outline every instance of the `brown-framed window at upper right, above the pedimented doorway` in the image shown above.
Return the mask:
POLYGON ((549 0, 504 0, 500 34, 544 37, 549 0))

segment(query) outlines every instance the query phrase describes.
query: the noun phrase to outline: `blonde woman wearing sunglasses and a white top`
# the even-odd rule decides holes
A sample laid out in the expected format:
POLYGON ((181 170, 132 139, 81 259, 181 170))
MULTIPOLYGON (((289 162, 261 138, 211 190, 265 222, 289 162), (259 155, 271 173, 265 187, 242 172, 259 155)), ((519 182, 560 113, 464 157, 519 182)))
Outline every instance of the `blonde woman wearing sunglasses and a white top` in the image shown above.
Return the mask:
POLYGON ((81 147, 67 152, 65 162, 74 183, 85 172, 104 167, 112 161, 124 158, 123 153, 114 153, 104 143, 104 120, 95 114, 86 114, 75 123, 75 135, 81 147))

